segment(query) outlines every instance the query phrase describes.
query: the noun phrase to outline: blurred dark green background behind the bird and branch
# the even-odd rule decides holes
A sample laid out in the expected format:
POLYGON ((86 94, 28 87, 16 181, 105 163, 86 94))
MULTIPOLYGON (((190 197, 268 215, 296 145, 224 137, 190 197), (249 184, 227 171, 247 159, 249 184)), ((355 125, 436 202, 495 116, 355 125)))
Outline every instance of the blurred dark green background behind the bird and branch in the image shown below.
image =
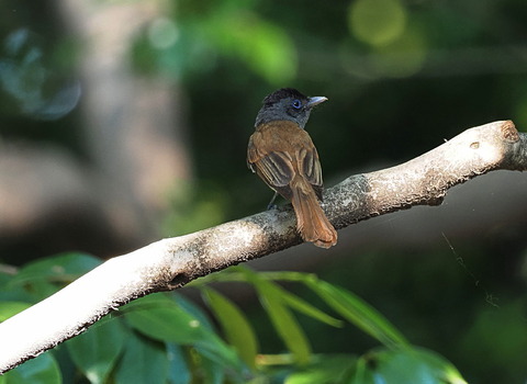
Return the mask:
MULTIPOLYGON (((523 0, 5 0, 0 261, 108 258, 261 211, 271 192, 245 151, 261 100, 281 87, 329 99, 307 124, 327 187, 471 126, 512 118, 524 131, 525 20, 523 0)), ((494 172, 439 207, 346 228, 329 251, 303 245, 251 264, 346 286, 470 382, 525 382, 526 187, 494 172)), ((279 351, 254 297, 231 294, 279 351)), ((301 320, 316 352, 375 346, 301 320)))

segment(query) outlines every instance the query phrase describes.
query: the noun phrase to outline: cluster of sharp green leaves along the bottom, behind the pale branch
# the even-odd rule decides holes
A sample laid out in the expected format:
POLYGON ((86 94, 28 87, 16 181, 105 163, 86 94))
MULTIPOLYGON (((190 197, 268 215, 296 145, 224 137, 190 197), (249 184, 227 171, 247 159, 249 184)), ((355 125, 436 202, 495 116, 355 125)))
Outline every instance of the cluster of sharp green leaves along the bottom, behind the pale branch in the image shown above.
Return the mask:
MULTIPOLYGON (((0 319, 22 310, 83 273, 99 260, 59 255, 22 267, 0 280, 0 319)), ((466 383, 444 358, 412 347, 380 313, 349 291, 300 272, 254 272, 231 268, 192 282, 201 291, 225 340, 205 312, 180 294, 136 300, 85 334, 0 377, 0 383, 466 383), (283 290, 277 282, 304 285, 343 319, 384 347, 363 357, 314 354, 293 313, 326 326, 341 320, 283 290), (251 285, 280 336, 283 353, 261 353, 251 321, 212 282, 251 285), (408 370, 410 369, 410 370, 408 370), (415 369, 415 370, 414 370, 415 369)), ((79 298, 81 300, 81 298, 79 298)))

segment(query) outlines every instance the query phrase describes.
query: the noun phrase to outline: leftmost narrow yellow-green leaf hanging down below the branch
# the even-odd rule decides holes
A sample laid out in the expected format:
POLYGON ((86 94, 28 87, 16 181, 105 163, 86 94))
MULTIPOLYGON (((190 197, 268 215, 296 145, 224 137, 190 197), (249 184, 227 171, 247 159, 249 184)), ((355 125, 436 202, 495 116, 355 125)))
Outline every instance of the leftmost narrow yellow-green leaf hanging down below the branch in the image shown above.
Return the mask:
POLYGON ((214 310, 227 341, 233 345, 242 360, 256 369, 258 341, 249 321, 238 307, 227 297, 211 289, 202 290, 205 301, 214 310))

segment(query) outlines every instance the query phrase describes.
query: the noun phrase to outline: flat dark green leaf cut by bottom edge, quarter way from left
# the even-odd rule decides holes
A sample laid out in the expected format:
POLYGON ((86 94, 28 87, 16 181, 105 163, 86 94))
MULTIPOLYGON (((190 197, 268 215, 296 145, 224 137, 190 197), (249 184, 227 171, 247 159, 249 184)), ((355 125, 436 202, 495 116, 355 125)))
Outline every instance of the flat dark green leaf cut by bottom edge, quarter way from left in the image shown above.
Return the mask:
POLYGON ((169 360, 164 343, 131 332, 115 369, 115 383, 167 383, 169 360))

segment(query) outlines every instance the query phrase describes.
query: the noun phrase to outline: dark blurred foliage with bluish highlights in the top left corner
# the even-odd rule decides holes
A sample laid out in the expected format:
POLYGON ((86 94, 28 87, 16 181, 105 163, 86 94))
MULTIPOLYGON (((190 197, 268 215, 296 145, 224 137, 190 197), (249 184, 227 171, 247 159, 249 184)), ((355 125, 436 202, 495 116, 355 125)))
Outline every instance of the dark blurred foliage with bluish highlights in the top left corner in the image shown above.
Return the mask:
POLYGON ((81 97, 78 42, 66 37, 48 1, 2 2, 0 18, 0 137, 82 147, 75 113, 81 97))

